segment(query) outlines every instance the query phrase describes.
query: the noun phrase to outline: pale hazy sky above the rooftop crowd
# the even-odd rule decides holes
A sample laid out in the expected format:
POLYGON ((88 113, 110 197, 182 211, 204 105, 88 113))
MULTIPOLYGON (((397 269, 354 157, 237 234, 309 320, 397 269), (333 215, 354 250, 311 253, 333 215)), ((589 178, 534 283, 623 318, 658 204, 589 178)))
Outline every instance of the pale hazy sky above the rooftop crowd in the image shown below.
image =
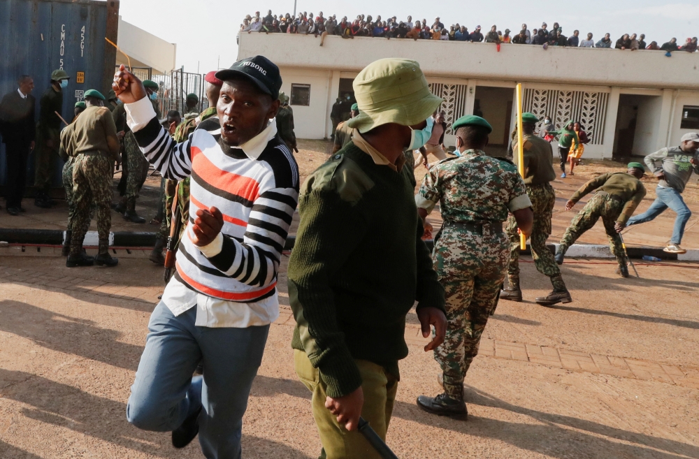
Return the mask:
MULTIPOLYGON (((122 0, 120 15, 134 24, 170 43, 177 44, 177 66, 185 71, 206 73, 217 68, 228 68, 238 57, 236 35, 245 15, 256 10, 264 16, 271 9, 273 15, 294 12, 294 0, 267 0, 264 3, 238 0, 122 0)), ((517 34, 521 24, 538 29, 546 22, 551 29, 554 22, 563 27, 563 34, 572 35, 579 29, 580 36, 588 32, 594 40, 609 32, 614 41, 622 34, 645 34, 647 43, 662 45, 676 37, 679 44, 687 37, 699 35, 699 2, 675 3, 651 0, 586 0, 586 1, 418 1, 418 0, 298 0, 297 13, 307 11, 325 17, 336 15, 338 20, 347 16, 397 16, 405 20, 425 18, 433 22, 441 17, 445 26, 458 22, 473 31, 480 25, 484 31, 493 24, 498 30, 511 29, 517 34), (572 6, 572 7, 571 7, 572 6)), ((377 38, 377 40, 380 38, 377 38)), ((293 52, 293 50, 289 50, 293 52)), ((243 56, 245 57, 245 56, 243 56)))

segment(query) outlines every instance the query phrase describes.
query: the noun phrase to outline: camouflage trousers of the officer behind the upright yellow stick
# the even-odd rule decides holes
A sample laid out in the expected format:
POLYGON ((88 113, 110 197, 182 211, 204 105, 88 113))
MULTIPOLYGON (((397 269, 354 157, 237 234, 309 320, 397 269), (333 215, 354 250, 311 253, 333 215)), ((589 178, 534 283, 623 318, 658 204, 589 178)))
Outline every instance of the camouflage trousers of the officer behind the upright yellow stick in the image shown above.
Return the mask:
MULTIPOLYGON (((538 272, 548 277, 561 275, 559 266, 549 249, 546 248, 546 240, 551 234, 551 217, 556 203, 556 193, 550 184, 526 185, 526 194, 531 201, 534 212, 534 225, 532 227, 529 242, 531 244, 531 256, 538 272)), ((517 221, 510 215, 507 219, 507 236, 510 238, 510 265, 507 275, 510 278, 519 277, 519 234, 517 233, 517 221)))

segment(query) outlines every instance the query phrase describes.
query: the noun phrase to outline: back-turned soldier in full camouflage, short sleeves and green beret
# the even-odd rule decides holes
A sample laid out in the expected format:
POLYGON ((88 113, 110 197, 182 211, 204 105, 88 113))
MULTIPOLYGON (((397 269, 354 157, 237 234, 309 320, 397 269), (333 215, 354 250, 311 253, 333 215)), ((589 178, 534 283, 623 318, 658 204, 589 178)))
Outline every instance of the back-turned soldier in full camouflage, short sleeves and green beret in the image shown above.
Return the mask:
MULTIPOLYGON (((520 230, 531 232, 533 213, 517 168, 483 150, 493 130, 483 118, 461 117, 452 125, 461 156, 433 166, 415 196, 423 221, 440 203, 444 226, 435 238, 433 263, 445 289, 447 335, 435 349, 444 393, 421 395, 417 405, 432 414, 466 418, 463 379, 498 302, 507 270, 503 221, 513 214, 520 230)), ((426 231, 431 226, 426 224, 426 231)))

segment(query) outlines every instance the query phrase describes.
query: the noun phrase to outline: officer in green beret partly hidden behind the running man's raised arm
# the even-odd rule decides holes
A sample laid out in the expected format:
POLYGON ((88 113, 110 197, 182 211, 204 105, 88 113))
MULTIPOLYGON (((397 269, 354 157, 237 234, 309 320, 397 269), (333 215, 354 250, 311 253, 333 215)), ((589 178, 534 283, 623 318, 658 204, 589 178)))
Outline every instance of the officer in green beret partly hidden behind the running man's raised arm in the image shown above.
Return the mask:
MULTIPOLYGON (((145 87, 145 92, 150 99, 155 114, 160 119, 162 117, 162 112, 160 111, 158 105, 158 90, 159 85, 157 82, 152 80, 144 80, 143 86, 145 87)), ((148 168, 150 168, 150 163, 148 163, 143 152, 140 151, 138 143, 136 143, 136 138, 134 133, 131 132, 129 126, 126 123, 126 110, 124 104, 117 105, 113 110, 113 118, 115 124, 118 126, 120 131, 124 131, 124 153, 126 154, 126 160, 124 161, 124 171, 123 174, 126 175, 125 180, 120 181, 119 190, 120 194, 123 196, 119 204, 114 207, 114 210, 120 214, 124 214, 124 220, 131 221, 133 223, 145 223, 145 219, 140 217, 136 213, 136 199, 138 199, 138 192, 145 183, 145 179, 148 176, 148 168)), ((122 175, 124 179, 124 175, 122 175)))

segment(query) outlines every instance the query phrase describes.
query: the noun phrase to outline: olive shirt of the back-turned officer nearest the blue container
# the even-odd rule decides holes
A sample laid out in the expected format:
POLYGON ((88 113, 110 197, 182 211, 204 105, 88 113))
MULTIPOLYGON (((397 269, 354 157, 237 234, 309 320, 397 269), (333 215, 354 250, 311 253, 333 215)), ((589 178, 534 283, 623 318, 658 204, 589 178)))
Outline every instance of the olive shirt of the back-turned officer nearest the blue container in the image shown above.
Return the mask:
POLYGON ((87 107, 73 123, 75 156, 83 152, 103 152, 119 159, 117 127, 106 107, 87 107))

